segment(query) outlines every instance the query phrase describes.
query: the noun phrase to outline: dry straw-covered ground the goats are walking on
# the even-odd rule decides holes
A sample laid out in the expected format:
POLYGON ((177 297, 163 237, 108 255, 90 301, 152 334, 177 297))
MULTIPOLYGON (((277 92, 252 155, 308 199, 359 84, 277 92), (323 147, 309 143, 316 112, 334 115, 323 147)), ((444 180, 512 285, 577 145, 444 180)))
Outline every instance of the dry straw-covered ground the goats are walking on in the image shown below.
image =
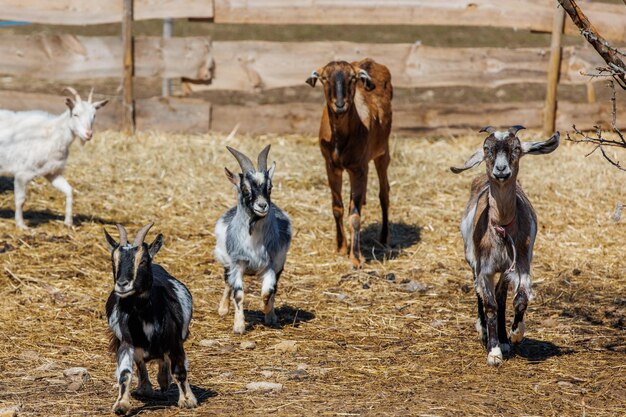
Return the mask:
POLYGON ((232 334, 232 316, 217 315, 223 283, 212 256, 213 226, 235 202, 223 167, 237 166, 224 137, 104 132, 74 145, 66 171, 76 190, 71 230, 62 224, 63 198, 43 180, 29 190, 31 228, 17 230, 11 181, 0 181, 0 408, 18 405, 25 416, 110 413, 115 363, 104 303, 113 285, 102 228, 114 232, 120 222, 134 235, 156 221, 149 239, 165 235, 156 262, 194 296, 186 346, 201 404, 178 409, 173 387, 166 398, 134 399, 134 414, 624 415, 626 223, 613 214, 626 199, 626 177, 568 143, 522 161, 520 179, 540 223, 536 298, 527 339, 502 367, 489 368, 458 231, 471 178, 484 168, 456 176, 448 170, 481 141, 392 140, 393 250, 384 260, 375 242, 380 207, 370 172, 368 262, 354 272, 333 249, 316 139, 232 140, 253 156, 273 145, 273 201, 294 224, 277 296, 281 326, 262 324, 260 284, 250 278, 243 336, 232 334), (254 348, 244 349, 250 341, 254 348), (87 381, 63 375, 75 366, 87 368, 87 381), (250 391, 251 382, 280 383, 282 390, 250 391))

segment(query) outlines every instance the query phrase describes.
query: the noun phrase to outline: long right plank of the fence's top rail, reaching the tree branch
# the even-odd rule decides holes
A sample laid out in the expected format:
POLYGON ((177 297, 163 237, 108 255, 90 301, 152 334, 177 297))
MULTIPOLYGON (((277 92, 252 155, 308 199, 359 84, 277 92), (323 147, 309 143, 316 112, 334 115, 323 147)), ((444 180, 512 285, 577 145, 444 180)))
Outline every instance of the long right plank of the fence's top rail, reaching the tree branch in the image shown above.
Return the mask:
MULTIPOLYGON (((606 38, 626 40, 624 5, 586 2, 606 38)), ((552 30, 553 0, 215 0, 216 23, 494 26, 552 30)), ((578 29, 568 22, 566 33, 578 29)))

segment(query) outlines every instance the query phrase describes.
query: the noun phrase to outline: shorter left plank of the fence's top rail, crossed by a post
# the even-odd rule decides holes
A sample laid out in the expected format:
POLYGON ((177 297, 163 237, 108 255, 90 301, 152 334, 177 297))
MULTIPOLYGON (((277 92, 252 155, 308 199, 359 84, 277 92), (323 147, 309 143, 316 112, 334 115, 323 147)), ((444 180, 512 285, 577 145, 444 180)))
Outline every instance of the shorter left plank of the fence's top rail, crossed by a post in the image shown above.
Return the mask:
MULTIPOLYGON (((134 0, 135 20, 212 18, 213 0, 134 0)), ((120 0, 3 0, 0 20, 55 25, 119 23, 120 0)))

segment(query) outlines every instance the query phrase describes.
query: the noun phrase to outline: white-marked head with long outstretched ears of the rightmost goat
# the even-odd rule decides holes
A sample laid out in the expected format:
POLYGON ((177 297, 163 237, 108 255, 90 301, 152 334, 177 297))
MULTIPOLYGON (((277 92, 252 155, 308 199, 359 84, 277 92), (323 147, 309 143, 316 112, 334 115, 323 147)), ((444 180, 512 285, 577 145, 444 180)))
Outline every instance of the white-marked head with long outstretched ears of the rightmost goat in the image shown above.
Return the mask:
POLYGON ((451 167, 455 174, 470 169, 483 160, 487 165, 487 176, 501 184, 515 181, 519 172, 519 160, 522 156, 540 155, 554 151, 559 146, 560 133, 556 132, 550 139, 543 142, 520 142, 517 132, 523 126, 512 126, 504 132, 497 131, 493 126, 482 128, 481 132, 489 133, 482 149, 477 150, 462 168, 451 167))

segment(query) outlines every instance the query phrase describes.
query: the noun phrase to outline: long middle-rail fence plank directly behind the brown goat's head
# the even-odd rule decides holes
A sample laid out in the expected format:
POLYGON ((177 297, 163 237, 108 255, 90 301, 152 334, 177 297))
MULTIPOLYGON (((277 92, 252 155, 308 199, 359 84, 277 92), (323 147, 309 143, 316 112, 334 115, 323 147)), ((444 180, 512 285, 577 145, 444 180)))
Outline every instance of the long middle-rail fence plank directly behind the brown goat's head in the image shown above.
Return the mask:
MULTIPOLYGON (((337 59, 374 58, 384 63, 397 87, 496 87, 512 83, 545 83, 548 48, 439 48, 418 44, 350 42, 213 42, 216 62, 211 85, 191 91, 254 91, 304 85, 312 70, 337 59)), ((561 82, 585 84, 581 70, 602 63, 594 51, 563 51, 561 82)))

